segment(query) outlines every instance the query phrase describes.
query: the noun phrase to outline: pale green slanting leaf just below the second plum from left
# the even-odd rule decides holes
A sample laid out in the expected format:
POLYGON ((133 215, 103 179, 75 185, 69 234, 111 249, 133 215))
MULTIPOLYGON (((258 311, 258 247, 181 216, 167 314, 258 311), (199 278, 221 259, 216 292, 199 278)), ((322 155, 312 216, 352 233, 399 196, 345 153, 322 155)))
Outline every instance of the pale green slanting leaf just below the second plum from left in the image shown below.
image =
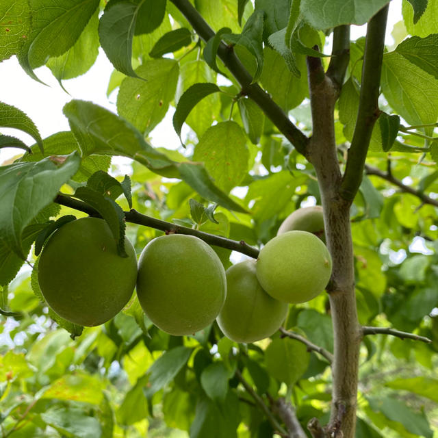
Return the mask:
POLYGON ((151 386, 148 387, 147 394, 155 394, 168 385, 188 361, 192 351, 192 348, 179 346, 159 357, 148 370, 151 386))

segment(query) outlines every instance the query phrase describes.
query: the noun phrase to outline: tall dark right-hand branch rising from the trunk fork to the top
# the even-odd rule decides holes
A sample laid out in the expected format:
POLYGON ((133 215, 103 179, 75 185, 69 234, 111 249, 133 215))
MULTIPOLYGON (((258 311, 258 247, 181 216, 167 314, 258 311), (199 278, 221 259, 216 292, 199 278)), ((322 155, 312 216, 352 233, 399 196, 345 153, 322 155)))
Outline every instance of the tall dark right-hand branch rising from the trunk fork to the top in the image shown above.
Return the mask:
POLYGON ((383 49, 389 5, 383 7, 368 22, 363 53, 361 94, 355 132, 348 150, 346 170, 340 195, 352 202, 362 181, 363 166, 370 145, 372 129, 380 114, 378 95, 381 82, 383 49))

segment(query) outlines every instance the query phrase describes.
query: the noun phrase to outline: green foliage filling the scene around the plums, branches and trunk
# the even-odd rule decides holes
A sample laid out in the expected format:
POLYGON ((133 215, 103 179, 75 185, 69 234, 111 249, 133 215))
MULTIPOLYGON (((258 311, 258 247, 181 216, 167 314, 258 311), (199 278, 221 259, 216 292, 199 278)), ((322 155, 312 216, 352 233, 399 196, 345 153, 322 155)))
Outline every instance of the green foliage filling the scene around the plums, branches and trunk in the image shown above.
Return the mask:
MULTIPOLYGON (((118 115, 73 96, 64 107, 70 131, 42 139, 13 102, 0 103, 1 127, 36 142, 31 155, 0 168, 1 436, 269 437, 272 419, 280 421, 279 397, 292 401, 302 424, 311 417, 326 422, 329 361, 302 342, 276 333, 235 344, 216 323, 173 337, 151 324, 136 298, 103 326, 82 329, 44 305, 29 265, 60 225, 54 220, 86 216, 53 203, 59 191, 97 209, 117 240, 125 232, 121 209, 133 207, 253 246, 268 242, 292 211, 319 204, 320 192, 313 166, 216 57, 220 40, 235 44, 253 81, 310 134, 306 55, 318 55, 312 47, 324 47, 332 27, 363 24, 387 1, 333 0, 327 9, 322 0, 196 0, 217 32, 208 42, 179 2, 53 3, 1 2, 0 60, 15 55, 35 80, 34 69, 46 65, 66 86, 94 64, 100 46, 114 64, 108 93, 118 89, 118 115), (177 133, 183 124, 190 130, 181 145, 155 147, 148 136, 171 107, 177 133), (116 155, 133 160, 129 178, 111 164, 116 155), (108 184, 116 188, 112 197, 108 184)), ((432 342, 364 338, 358 438, 438 433, 437 8, 436 0, 403 3, 395 44, 383 57, 382 114, 350 211, 359 322, 432 342)), ((363 50, 363 38, 351 42, 335 112, 340 166, 356 123, 363 50)), ((28 149, 6 135, 0 146, 28 149)), ((128 222, 126 233, 140 253, 162 231, 128 222)), ((244 257, 213 248, 225 268, 244 257)), ((291 306, 284 329, 333 352, 324 294, 291 306)))

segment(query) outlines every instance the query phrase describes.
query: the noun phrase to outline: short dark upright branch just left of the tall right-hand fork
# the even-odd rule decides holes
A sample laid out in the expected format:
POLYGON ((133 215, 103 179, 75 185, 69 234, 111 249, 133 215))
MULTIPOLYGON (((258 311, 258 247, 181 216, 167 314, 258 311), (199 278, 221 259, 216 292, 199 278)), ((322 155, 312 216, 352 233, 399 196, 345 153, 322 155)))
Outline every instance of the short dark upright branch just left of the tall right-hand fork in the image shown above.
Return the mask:
POLYGON ((350 61, 350 26, 342 25, 333 30, 333 48, 326 75, 335 83, 338 90, 342 88, 345 73, 350 61))

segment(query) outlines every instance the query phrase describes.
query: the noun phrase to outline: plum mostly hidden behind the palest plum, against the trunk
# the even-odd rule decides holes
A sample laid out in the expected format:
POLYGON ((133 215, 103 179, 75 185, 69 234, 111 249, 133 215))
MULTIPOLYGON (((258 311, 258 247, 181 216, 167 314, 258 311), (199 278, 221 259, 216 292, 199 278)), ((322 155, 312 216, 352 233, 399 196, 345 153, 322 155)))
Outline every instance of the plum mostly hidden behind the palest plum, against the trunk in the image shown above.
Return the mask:
POLYGON ((312 207, 303 207, 295 210, 283 220, 276 235, 294 230, 308 231, 325 242, 322 207, 320 205, 313 205, 312 207))

